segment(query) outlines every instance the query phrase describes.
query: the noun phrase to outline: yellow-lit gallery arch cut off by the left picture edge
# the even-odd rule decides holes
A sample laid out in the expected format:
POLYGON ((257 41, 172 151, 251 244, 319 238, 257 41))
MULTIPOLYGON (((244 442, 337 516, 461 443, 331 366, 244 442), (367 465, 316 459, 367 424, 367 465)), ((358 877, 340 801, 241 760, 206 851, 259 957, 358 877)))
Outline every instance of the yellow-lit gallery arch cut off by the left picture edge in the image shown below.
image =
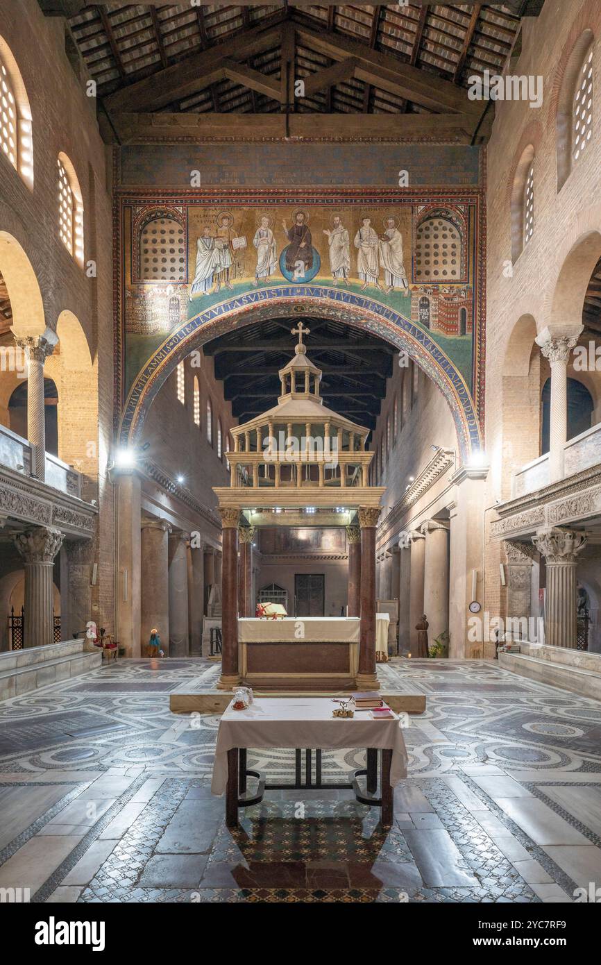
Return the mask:
POLYGON ((0 272, 11 299, 14 337, 43 335, 46 323, 38 278, 24 249, 9 232, 0 232, 0 272))

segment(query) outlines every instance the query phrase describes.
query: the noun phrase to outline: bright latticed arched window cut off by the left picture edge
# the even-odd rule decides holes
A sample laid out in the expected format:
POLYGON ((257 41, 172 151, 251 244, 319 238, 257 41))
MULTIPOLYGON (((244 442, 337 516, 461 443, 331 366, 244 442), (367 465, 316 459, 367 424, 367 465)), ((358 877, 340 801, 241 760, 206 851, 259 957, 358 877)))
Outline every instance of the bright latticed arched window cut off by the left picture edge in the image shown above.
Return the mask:
POLYGON ((0 150, 29 188, 34 153, 29 98, 8 44, 0 37, 0 150))

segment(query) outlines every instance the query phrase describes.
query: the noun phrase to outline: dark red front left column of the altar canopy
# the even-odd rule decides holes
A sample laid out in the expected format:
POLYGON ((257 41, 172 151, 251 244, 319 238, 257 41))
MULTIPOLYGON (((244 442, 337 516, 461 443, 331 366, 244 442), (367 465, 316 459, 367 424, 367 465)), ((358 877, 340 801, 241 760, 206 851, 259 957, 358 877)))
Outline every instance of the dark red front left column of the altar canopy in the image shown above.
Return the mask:
POLYGON ((232 690, 240 682, 238 673, 238 507, 219 509, 222 526, 223 570, 221 581, 221 676, 220 690, 232 690))

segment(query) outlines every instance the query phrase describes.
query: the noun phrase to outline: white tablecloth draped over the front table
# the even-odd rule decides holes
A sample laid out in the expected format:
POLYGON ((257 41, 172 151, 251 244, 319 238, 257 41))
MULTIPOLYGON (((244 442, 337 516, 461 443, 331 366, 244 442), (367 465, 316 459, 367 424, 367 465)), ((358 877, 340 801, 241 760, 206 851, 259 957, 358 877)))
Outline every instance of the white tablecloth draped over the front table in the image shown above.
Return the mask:
POLYGON ((234 747, 368 748, 392 750, 391 785, 407 774, 407 750, 398 718, 374 721, 369 710, 351 718, 332 717, 329 697, 269 697, 246 710, 230 705, 219 723, 211 792, 228 783, 228 751, 234 747))

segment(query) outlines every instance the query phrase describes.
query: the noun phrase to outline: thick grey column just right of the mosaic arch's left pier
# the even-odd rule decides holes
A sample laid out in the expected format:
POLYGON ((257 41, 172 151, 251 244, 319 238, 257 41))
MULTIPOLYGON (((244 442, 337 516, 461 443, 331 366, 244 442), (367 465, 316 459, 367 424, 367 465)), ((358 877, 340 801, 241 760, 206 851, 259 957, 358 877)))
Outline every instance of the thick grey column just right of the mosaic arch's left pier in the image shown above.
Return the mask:
POLYGON ((169 534, 166 519, 145 516, 141 525, 140 626, 146 656, 150 630, 156 627, 165 653, 169 647, 169 534))

